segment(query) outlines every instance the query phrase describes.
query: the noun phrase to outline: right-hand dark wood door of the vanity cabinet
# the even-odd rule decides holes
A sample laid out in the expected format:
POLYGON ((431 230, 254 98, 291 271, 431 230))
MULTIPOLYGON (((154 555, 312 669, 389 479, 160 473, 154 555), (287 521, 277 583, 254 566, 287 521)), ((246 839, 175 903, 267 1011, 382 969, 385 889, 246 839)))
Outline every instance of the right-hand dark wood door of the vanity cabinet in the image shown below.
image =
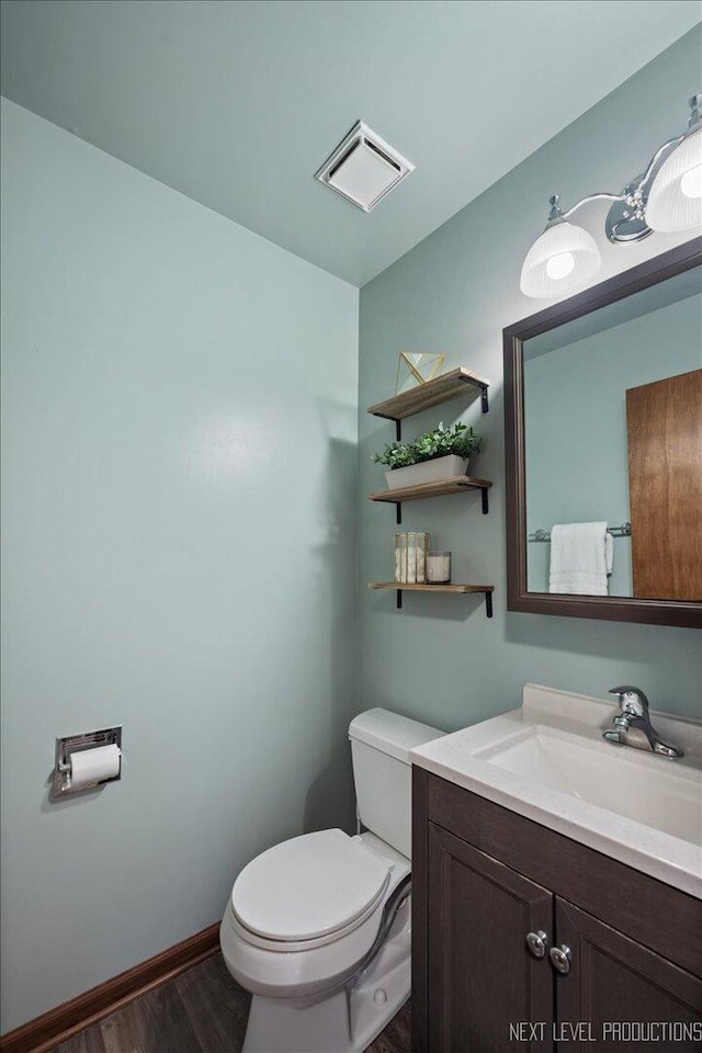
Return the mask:
POLYGON ((559 898, 556 933, 571 952, 570 971, 556 974, 557 1050, 699 1053, 702 981, 559 898))

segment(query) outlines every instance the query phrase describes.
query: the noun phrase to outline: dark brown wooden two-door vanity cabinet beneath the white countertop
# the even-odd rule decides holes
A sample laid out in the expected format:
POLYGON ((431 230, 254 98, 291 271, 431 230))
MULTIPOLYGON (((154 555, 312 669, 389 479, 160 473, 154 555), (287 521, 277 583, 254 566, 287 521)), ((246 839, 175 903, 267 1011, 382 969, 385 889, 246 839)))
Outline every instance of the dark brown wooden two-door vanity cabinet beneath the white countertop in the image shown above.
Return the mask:
POLYGON ((412 1027, 414 1053, 699 1050, 702 904, 415 768, 412 1027))

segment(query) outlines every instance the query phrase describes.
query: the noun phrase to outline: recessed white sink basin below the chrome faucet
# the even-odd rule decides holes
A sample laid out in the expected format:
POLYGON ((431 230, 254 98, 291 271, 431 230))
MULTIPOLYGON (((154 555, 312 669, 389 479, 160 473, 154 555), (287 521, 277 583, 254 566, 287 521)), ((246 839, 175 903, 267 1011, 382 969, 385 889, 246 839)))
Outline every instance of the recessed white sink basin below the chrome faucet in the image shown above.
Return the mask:
POLYGON ((664 834, 692 843, 702 837, 700 772, 675 769, 675 761, 652 756, 642 763, 637 750, 604 740, 578 741, 545 725, 517 732, 474 756, 664 834))

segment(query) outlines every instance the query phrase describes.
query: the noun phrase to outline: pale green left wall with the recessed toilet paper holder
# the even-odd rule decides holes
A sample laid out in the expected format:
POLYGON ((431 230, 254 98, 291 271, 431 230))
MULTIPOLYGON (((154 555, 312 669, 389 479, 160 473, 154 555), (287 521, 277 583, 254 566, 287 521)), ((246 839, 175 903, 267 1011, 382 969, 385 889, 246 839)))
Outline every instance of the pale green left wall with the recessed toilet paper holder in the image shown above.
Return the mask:
POLYGON ((352 819, 358 290, 2 117, 4 1031, 352 819), (122 782, 50 804, 116 723, 122 782))

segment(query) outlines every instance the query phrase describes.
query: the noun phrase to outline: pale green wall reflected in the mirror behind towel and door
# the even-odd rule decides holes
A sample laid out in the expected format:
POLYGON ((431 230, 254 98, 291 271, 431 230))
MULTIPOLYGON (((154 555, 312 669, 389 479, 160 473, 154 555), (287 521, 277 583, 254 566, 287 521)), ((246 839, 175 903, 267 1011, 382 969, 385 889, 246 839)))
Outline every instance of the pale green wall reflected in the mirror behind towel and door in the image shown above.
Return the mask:
MULTIPOLYGON (((525 362, 530 533, 553 523, 629 522, 626 389, 702 367, 701 306, 698 293, 525 362)), ((548 591, 550 551, 526 546, 533 592, 548 591)), ((615 537, 610 596, 633 595, 631 556, 631 539, 615 537)))

